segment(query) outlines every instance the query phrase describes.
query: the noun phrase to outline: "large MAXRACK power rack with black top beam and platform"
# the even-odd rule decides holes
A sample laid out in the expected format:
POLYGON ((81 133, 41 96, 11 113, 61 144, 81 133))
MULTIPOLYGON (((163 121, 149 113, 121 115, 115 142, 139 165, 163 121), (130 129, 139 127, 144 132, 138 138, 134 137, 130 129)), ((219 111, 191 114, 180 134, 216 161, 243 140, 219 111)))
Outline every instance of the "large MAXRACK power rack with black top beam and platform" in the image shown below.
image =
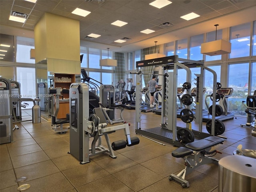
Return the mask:
MULTIPOLYGON (((196 106, 195 106, 195 115, 194 121, 198 124, 198 131, 192 130, 192 134, 197 136, 197 138, 206 138, 208 136, 215 136, 217 129, 215 123, 215 107, 212 109, 212 124, 210 127, 211 133, 202 132, 202 108, 203 108, 203 87, 204 87, 204 70, 208 70, 213 74, 213 87, 216 87, 217 74, 214 70, 207 68, 204 66, 203 61, 193 61, 178 58, 178 56, 168 56, 164 58, 156 58, 153 60, 143 60, 136 62, 136 67, 138 72, 131 73, 136 75, 136 92, 140 93, 140 95, 136 96, 136 133, 144 136, 148 136, 150 138, 154 138, 174 146, 184 146, 177 138, 177 132, 180 127, 177 127, 176 123, 176 113, 177 113, 177 77, 178 77, 178 68, 183 68, 187 72, 186 82, 191 85, 191 71, 190 67, 200 67, 201 72, 197 74, 196 78, 196 106), (152 65, 161 65, 163 66, 164 73, 160 75, 162 78, 162 111, 161 111, 161 126, 155 128, 146 128, 143 129, 140 124, 141 110, 141 85, 142 85, 142 72, 139 68, 144 66, 152 66, 152 65)), ((191 96, 191 90, 188 89, 186 92, 191 96)), ((216 88, 213 88, 213 106, 216 105, 216 88)), ((187 106, 189 109, 190 107, 187 106)), ((190 114, 186 114, 188 118, 190 118, 190 114)), ((186 132, 181 132, 183 134, 181 137, 186 139, 186 134, 191 134, 189 131, 190 124, 186 123, 186 132)), ((223 128, 221 128, 223 130, 223 128)), ((219 135, 219 132, 217 132, 219 135)))

